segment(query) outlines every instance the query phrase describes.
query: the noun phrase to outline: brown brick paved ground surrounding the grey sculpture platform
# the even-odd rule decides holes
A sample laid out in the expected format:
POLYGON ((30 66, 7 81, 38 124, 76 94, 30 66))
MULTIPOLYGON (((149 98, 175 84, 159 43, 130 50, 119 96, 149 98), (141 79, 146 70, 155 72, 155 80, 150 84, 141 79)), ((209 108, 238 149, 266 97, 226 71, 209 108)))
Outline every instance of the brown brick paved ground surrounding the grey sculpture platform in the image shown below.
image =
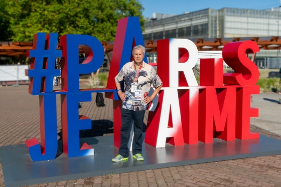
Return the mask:
MULTIPOLYGON (((95 94, 92 97, 94 100, 95 94)), ((259 108, 260 117, 251 120, 252 131, 281 140, 280 97, 276 93, 253 95, 252 107, 259 108)), ((57 98, 59 101, 59 96, 57 98)), ((0 105, 0 146, 23 144, 25 140, 33 137, 40 141, 39 99, 38 96, 28 94, 28 86, 0 87, 0 105)), ((94 102, 81 105, 80 113, 93 120, 91 130, 81 131, 82 137, 112 135, 111 100, 105 99, 105 107, 97 108, 94 102)), ((60 116, 59 102, 57 106, 60 116)), ((58 117, 58 124, 60 122, 58 117)), ((58 132, 60 129, 59 125, 58 132)), ((1 165, 0 186, 5 186, 1 165)), ((281 186, 281 155, 183 165, 32 186, 281 186)))

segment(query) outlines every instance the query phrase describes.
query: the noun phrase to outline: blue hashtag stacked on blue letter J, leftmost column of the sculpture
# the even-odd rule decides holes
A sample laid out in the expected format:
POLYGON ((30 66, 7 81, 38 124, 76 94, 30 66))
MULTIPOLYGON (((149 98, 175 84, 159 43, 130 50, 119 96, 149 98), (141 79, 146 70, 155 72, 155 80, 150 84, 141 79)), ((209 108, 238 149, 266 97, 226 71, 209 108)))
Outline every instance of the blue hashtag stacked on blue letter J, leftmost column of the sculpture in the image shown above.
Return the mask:
POLYGON ((37 33, 32 50, 27 52, 27 57, 31 57, 28 71, 31 77, 29 93, 40 95, 41 145, 36 138, 26 141, 33 161, 55 159, 57 154, 57 107, 56 95, 53 94, 53 78, 60 75, 60 70, 55 69, 55 60, 62 57, 62 51, 57 50, 57 37, 56 33, 46 36, 45 33, 37 33))

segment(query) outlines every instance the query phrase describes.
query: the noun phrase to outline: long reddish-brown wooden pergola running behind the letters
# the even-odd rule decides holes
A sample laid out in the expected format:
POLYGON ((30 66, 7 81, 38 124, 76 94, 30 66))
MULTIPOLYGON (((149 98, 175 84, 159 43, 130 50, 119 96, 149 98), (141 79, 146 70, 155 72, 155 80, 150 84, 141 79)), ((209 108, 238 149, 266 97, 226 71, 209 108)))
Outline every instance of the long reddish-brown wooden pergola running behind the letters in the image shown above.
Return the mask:
MULTIPOLYGON (((229 42, 254 41, 260 49, 272 50, 280 49, 281 40, 279 37, 242 37, 242 38, 208 38, 190 39, 197 46, 198 51, 221 51, 224 45, 229 42)), ((157 40, 145 40, 147 52, 157 51, 157 40)), ((105 54, 113 51, 114 42, 101 42, 105 54)), ((22 59, 28 50, 32 50, 33 42, 0 42, 0 56, 14 56, 22 59)), ((57 49, 60 49, 58 43, 57 49)), ((79 51, 83 53, 82 49, 79 51)), ((21 60, 20 60, 21 62, 21 60)))

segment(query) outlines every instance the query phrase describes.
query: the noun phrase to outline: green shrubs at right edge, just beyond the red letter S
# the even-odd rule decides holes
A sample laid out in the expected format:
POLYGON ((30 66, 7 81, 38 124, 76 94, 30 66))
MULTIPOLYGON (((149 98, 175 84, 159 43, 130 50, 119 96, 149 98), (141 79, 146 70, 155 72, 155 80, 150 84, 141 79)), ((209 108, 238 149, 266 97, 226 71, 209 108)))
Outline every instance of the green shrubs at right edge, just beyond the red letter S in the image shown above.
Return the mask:
POLYGON ((280 83, 280 78, 259 78, 257 81, 261 92, 280 91, 280 83))

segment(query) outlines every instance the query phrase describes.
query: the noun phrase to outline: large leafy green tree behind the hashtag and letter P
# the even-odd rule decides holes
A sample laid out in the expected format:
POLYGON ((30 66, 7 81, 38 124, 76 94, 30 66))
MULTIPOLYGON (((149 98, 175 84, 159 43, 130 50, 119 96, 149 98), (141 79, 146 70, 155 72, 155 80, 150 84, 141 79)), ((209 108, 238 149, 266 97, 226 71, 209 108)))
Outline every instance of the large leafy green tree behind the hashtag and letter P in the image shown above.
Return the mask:
POLYGON ((144 8, 138 0, 3 0, 13 41, 32 41, 37 32, 92 35, 113 41, 119 19, 139 17, 144 28, 144 8))

